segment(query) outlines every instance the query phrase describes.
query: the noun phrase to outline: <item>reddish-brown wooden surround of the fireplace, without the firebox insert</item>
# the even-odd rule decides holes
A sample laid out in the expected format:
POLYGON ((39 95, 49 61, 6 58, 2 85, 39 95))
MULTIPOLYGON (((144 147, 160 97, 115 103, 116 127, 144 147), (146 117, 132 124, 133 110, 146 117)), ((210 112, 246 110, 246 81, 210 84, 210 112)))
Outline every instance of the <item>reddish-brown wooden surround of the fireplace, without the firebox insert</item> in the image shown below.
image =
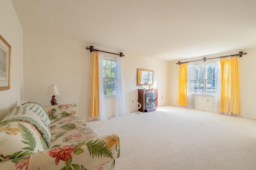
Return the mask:
POLYGON ((139 111, 141 112, 150 112, 150 111, 155 111, 158 108, 158 89, 138 89, 138 102, 141 104, 141 107, 139 109, 139 111), (155 107, 154 108, 150 108, 147 109, 146 105, 147 105, 147 101, 146 101, 146 94, 152 94, 155 93, 156 94, 156 98, 155 98, 155 107))

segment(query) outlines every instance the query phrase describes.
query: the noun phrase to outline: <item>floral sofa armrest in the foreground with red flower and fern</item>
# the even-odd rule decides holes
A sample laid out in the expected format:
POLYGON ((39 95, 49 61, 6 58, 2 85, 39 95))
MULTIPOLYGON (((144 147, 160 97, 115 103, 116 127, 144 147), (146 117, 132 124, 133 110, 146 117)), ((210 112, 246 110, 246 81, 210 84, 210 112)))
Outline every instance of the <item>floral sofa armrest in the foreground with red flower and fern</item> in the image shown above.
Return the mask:
POLYGON ((3 161, 0 165, 10 170, 22 168, 26 170, 90 170, 119 156, 119 137, 111 134, 3 161))

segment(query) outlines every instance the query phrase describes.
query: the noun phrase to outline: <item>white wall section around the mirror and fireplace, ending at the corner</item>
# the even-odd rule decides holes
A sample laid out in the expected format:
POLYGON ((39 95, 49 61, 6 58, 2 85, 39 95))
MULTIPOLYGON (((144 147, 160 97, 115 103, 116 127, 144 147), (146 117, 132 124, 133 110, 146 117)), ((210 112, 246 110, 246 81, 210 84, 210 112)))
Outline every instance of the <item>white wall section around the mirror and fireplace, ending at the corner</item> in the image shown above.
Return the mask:
POLYGON ((154 81, 158 88, 158 106, 169 104, 169 87, 168 87, 168 62, 148 57, 138 56, 126 52, 123 58, 124 66, 124 82, 126 96, 126 113, 138 111, 135 104, 138 100, 138 89, 143 89, 143 86, 136 86, 137 68, 154 70, 154 81), (163 96, 163 99, 161 98, 163 96), (167 98, 166 98, 167 96, 167 98), (134 103, 132 104, 132 100, 134 103))

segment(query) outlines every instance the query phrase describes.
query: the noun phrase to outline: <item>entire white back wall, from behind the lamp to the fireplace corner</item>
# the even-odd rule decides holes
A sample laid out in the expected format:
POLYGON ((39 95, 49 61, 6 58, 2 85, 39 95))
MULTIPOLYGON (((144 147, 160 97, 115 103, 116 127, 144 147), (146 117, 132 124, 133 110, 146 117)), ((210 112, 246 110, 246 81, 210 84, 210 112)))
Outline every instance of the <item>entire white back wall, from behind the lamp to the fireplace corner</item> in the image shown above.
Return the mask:
MULTIPOLYGON (((56 96, 58 104, 76 102, 78 115, 88 120, 88 88, 90 74, 90 44, 24 31, 24 101, 34 99, 43 106, 50 105, 50 96, 45 96, 48 86, 54 84, 61 95, 56 96)), ((120 53, 118 50, 93 45, 94 49, 120 53)), ((154 70, 154 80, 159 88, 158 96, 168 96, 168 62, 150 59, 124 52, 122 57, 125 83, 125 112, 137 111, 138 99, 136 69, 154 70), (132 104, 131 100, 134 100, 132 104)), ((109 54, 108 54, 109 55, 109 54)), ((106 117, 114 115, 113 98, 105 100, 106 117)), ((159 106, 169 104, 168 99, 160 99, 159 106)))

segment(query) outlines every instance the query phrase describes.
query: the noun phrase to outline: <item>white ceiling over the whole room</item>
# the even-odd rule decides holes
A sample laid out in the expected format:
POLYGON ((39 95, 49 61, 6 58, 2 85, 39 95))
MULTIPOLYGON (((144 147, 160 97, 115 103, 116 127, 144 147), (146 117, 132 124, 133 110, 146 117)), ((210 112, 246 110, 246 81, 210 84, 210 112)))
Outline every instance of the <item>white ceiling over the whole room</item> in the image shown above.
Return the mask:
POLYGON ((166 61, 256 47, 256 0, 12 0, 24 30, 166 61))

